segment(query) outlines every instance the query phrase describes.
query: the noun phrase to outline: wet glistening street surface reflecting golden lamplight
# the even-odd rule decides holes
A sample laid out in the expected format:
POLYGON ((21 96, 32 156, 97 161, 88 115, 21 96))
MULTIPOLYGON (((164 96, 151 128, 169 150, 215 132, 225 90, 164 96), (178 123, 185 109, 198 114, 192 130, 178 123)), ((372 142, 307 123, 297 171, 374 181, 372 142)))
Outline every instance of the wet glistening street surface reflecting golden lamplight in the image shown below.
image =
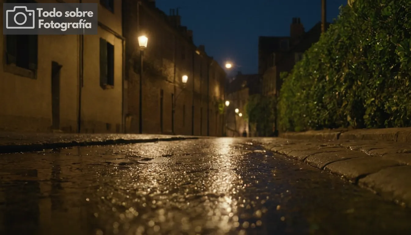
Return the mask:
POLYGON ((0 157, 0 234, 411 231, 410 209, 245 138, 0 157))

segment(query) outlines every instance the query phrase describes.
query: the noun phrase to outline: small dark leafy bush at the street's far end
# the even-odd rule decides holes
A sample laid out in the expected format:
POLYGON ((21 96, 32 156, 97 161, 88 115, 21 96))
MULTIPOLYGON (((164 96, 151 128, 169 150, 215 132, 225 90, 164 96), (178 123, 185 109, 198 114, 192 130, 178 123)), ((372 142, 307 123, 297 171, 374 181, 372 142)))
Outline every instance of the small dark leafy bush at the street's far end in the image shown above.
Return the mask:
POLYGON ((269 136, 275 121, 275 98, 259 94, 250 95, 244 106, 244 118, 256 125, 259 136, 269 136))

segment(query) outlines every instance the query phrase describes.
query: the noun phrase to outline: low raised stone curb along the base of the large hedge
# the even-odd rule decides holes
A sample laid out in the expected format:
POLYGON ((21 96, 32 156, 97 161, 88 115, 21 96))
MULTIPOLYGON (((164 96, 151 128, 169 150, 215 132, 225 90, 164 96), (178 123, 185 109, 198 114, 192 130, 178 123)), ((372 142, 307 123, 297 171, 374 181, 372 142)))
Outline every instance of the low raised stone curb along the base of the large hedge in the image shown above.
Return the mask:
POLYGON ((280 137, 298 140, 376 140, 411 143, 411 127, 358 129, 358 130, 318 130, 306 132, 286 132, 280 137))

